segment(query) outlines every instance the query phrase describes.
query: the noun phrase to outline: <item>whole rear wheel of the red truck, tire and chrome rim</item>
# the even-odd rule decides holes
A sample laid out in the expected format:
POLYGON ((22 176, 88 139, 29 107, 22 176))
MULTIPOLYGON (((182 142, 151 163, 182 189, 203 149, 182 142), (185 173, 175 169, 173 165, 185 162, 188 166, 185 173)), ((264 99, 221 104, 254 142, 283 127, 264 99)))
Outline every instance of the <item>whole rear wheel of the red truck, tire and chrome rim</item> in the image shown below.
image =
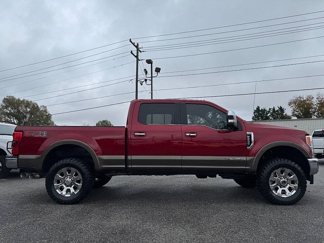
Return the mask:
POLYGON ((95 178, 90 165, 78 158, 55 163, 46 176, 46 190, 59 204, 77 204, 92 190, 95 178))

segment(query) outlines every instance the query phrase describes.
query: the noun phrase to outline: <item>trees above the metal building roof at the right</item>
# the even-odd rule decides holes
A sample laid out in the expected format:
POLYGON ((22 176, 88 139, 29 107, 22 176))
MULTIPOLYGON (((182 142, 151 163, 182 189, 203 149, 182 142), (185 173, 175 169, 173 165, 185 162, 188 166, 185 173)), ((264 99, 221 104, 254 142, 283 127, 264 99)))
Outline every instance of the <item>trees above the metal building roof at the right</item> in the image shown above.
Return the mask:
POLYGON ((252 120, 282 120, 291 119, 293 116, 301 118, 323 118, 324 117, 324 94, 296 96, 288 102, 292 114, 286 113, 282 106, 272 108, 260 108, 257 106, 253 111, 252 120))

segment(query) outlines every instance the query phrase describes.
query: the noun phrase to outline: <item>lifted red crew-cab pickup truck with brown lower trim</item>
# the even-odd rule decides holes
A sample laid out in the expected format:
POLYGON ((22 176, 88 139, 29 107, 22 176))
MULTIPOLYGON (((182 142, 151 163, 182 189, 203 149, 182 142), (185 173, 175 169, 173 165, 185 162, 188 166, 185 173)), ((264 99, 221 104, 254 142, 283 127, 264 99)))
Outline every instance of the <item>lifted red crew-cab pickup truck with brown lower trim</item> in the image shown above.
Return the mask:
POLYGON ((17 127, 8 168, 46 177, 60 204, 75 204, 118 175, 221 176, 258 187, 271 203, 299 201, 318 160, 304 131, 249 123, 199 100, 134 100, 126 127, 17 127))

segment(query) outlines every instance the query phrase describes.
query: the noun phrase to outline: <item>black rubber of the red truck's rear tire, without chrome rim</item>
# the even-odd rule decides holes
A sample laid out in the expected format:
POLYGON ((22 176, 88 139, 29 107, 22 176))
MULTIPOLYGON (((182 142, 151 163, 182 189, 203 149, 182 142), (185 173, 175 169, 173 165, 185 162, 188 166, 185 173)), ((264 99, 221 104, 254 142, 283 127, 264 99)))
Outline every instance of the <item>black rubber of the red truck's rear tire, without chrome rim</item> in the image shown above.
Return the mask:
POLYGON ((55 163, 47 173, 46 190, 49 196, 59 204, 77 204, 91 192, 94 182, 94 171, 91 165, 82 159, 65 158, 55 163), (79 171, 83 180, 80 190, 75 195, 69 197, 60 195, 54 188, 54 177, 56 173, 65 167, 74 168, 79 171))

